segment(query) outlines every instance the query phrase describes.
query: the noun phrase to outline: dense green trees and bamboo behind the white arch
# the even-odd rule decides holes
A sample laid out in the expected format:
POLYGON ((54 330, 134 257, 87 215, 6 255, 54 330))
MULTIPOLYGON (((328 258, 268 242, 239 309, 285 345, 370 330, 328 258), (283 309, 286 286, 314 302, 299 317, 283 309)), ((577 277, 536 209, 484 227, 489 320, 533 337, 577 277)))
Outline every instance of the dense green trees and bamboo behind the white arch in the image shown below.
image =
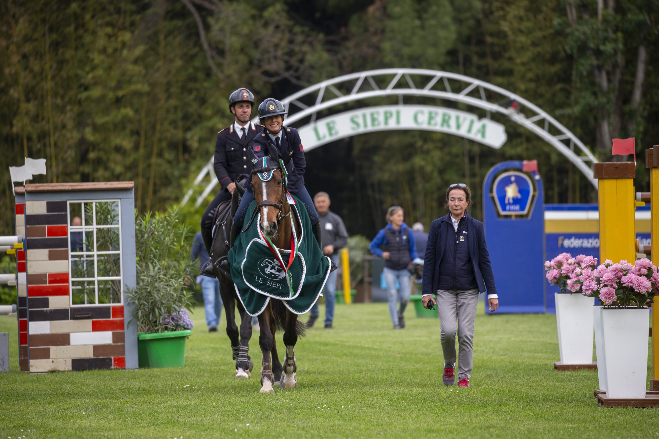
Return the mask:
MULTIPOLYGON (((164 209, 231 121, 232 90, 285 97, 368 68, 481 78, 554 115, 600 159, 614 137, 635 136, 641 151, 659 138, 657 9, 654 0, 7 0, 0 229, 13 226, 7 167, 22 157, 48 159, 35 182, 134 180, 140 211, 164 209)), ((427 225, 444 212, 448 183, 469 182, 480 197, 502 159, 538 159, 547 202, 594 200, 552 147, 506 128, 499 151, 427 132, 336 142, 307 154, 307 184, 330 192, 350 232, 369 235, 394 203, 427 225)), ((646 187, 643 163, 637 186, 646 187)))

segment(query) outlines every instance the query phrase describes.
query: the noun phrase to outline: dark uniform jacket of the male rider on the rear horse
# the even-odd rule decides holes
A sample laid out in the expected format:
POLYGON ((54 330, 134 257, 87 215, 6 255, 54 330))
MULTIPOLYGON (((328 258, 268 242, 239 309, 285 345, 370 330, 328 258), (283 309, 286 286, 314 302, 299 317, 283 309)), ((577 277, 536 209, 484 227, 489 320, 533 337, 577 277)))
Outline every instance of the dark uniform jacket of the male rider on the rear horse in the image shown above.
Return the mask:
POLYGON ((247 135, 242 138, 236 132, 235 122, 217 133, 214 166, 221 190, 225 190, 239 174, 252 171, 252 163, 247 159, 247 148, 252 146, 254 138, 263 127, 249 122, 244 128, 247 135))

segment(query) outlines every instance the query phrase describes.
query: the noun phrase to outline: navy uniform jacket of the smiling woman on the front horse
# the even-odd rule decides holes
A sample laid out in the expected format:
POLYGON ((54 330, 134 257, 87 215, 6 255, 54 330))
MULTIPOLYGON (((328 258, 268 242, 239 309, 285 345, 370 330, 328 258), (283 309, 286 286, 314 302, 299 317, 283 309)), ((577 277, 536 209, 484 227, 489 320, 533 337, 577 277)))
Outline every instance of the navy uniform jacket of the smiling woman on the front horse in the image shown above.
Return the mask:
MULTIPOLYGON (((281 143, 279 145, 279 155, 281 156, 281 160, 283 161, 288 174, 288 191, 291 194, 297 194, 297 192, 304 188, 304 168, 306 168, 302 140, 300 140, 300 135, 297 130, 289 126, 282 126, 279 133, 281 134, 281 140, 279 140, 281 143)), ((264 155, 268 154, 268 143, 277 146, 275 141, 268 136, 266 130, 260 132, 258 136, 254 138, 253 150, 256 159, 261 159, 264 155)), ((248 190, 250 192, 254 191, 251 185, 248 190)))

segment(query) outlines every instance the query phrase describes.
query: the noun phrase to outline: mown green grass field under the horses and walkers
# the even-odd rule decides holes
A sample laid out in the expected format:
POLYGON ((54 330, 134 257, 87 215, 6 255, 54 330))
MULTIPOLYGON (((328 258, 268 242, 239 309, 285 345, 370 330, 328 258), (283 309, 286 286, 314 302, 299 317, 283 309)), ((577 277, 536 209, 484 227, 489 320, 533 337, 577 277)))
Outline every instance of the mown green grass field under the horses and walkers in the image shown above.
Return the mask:
POLYGON ((202 308, 193 317, 184 368, 34 375, 18 372, 16 323, 0 317, 12 342, 0 439, 659 437, 657 409, 600 408, 595 371, 553 370, 554 315, 486 316, 481 304, 465 389, 442 384, 437 320, 409 309, 393 331, 386 303, 337 305, 335 329, 298 342, 299 387, 275 394, 258 393, 257 374, 235 380, 228 338, 207 332, 202 308))

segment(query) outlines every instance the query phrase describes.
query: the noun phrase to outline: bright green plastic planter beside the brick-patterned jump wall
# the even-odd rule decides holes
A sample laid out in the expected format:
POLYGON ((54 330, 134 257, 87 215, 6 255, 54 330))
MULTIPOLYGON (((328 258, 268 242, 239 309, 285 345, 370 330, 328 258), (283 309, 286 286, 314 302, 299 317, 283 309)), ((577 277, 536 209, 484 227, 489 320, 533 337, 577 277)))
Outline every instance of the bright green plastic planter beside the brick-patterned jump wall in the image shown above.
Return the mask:
POLYGON ((140 367, 185 366, 185 339, 189 329, 171 332, 138 333, 137 355, 140 367))

